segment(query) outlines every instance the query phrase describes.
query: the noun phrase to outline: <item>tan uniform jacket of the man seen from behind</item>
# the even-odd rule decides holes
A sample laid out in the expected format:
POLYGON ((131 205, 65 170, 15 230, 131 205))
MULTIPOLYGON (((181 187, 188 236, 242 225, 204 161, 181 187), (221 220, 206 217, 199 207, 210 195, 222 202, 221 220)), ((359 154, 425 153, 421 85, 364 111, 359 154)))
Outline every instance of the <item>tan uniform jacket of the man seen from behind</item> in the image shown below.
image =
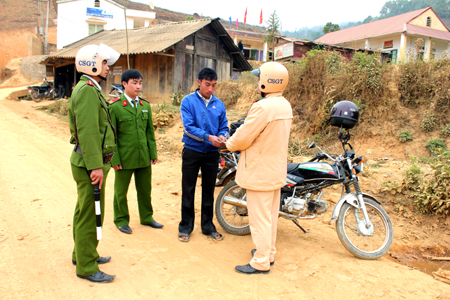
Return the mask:
POLYGON ((292 108, 281 93, 252 105, 245 123, 227 142, 230 151, 242 151, 236 174, 239 186, 272 191, 286 184, 291 123, 292 108))

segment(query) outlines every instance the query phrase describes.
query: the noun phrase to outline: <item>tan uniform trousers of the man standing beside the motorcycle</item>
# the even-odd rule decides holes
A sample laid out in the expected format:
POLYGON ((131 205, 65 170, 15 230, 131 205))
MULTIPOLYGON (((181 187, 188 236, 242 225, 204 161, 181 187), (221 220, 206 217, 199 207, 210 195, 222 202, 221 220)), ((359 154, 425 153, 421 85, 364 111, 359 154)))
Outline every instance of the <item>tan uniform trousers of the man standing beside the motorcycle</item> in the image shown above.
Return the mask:
POLYGON ((250 265, 257 270, 269 270, 270 262, 275 260, 280 191, 247 190, 250 230, 256 246, 250 265))

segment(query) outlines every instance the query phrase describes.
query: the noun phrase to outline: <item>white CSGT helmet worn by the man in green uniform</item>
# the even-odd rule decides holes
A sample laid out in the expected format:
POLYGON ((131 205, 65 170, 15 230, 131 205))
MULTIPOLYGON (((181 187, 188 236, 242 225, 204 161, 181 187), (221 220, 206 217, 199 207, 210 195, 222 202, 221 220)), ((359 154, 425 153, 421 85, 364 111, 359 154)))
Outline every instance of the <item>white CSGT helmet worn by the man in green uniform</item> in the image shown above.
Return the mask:
POLYGON ((78 50, 75 66, 80 73, 98 76, 102 71, 104 60, 108 66, 111 66, 119 59, 119 56, 119 52, 105 44, 87 45, 78 50))

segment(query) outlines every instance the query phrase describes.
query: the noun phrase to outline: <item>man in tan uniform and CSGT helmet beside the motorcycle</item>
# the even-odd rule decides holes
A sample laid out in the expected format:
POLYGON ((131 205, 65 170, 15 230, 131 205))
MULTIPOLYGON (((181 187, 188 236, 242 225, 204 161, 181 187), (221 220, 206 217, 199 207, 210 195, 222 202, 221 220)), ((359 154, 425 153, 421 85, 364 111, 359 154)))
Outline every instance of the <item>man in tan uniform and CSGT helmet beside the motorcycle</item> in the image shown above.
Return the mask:
POLYGON ((292 108, 282 96, 289 75, 279 63, 268 62, 252 73, 259 77, 255 102, 236 133, 227 141, 241 155, 236 182, 247 189, 247 207, 253 243, 249 264, 236 266, 244 274, 269 273, 275 262, 280 189, 286 184, 286 163, 292 108))

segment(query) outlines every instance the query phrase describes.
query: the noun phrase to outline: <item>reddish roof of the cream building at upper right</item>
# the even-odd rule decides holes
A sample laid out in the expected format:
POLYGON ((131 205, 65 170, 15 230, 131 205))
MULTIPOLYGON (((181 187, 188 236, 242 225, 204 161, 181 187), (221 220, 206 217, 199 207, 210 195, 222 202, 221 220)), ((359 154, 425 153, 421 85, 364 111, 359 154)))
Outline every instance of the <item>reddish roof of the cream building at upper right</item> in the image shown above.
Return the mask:
MULTIPOLYGON (((342 29, 339 31, 330 32, 330 33, 327 33, 326 35, 318 38, 317 40, 315 40, 315 42, 326 43, 326 44, 340 44, 340 43, 344 43, 344 42, 363 40, 363 39, 367 39, 367 38, 389 35, 389 34, 393 34, 393 33, 400 33, 400 32, 404 32, 404 31, 408 32, 408 29, 410 29, 410 28, 413 28, 415 31, 417 31, 415 29, 415 27, 420 27, 420 26, 409 25, 408 23, 429 9, 432 10, 431 7, 427 7, 427 8, 411 11, 411 12, 408 12, 408 13, 405 13, 402 15, 398 15, 395 17, 378 20, 375 22, 367 23, 367 24, 362 24, 362 25, 358 25, 355 27, 342 29)), ((425 34, 425 31, 427 31, 429 33, 438 31, 436 29, 424 28, 424 27, 423 27, 423 29, 424 30, 421 32, 423 32, 424 35, 428 35, 428 33, 425 34)), ((442 32, 445 34, 444 31, 442 31, 442 32)), ((448 39, 448 38, 444 38, 444 39, 448 39)))

